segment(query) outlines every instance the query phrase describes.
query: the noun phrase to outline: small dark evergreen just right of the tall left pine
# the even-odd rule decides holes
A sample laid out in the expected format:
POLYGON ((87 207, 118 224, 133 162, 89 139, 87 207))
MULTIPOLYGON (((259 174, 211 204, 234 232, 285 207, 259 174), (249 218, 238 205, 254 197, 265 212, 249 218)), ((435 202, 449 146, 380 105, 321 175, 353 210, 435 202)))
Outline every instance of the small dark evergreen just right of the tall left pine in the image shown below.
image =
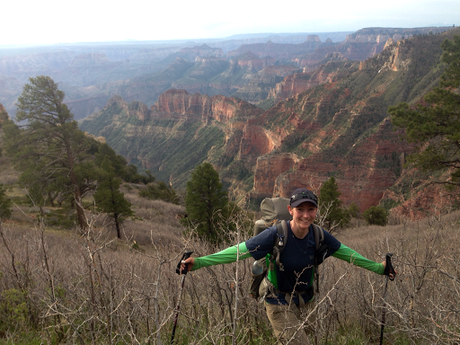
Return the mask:
POLYGON ((127 217, 134 215, 131 203, 120 191, 121 179, 116 177, 115 169, 108 157, 101 164, 98 186, 94 193, 96 209, 113 219, 117 237, 121 238, 121 224, 127 217))

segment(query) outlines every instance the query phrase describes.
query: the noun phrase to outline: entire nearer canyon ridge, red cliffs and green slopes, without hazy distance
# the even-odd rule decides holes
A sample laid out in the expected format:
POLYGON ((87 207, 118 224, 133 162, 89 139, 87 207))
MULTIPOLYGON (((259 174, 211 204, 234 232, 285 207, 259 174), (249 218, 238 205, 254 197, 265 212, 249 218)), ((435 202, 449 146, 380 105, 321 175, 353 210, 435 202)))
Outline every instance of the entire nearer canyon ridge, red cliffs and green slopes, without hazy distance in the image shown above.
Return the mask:
POLYGON ((413 146, 401 140, 403 131, 393 127, 387 109, 418 99, 439 78, 432 66, 443 38, 389 38, 364 61, 331 58, 315 70, 288 70, 294 73, 270 90, 276 102, 266 110, 235 97, 171 89, 138 114, 134 102, 117 98, 118 110, 108 105, 81 128, 106 137, 117 152, 175 188, 183 188, 203 161, 213 163, 232 199, 246 206, 297 187, 318 192, 334 176, 345 206, 364 211, 390 200, 399 205, 395 212, 417 218, 430 199, 394 191, 409 175, 404 163, 413 146), (429 63, 414 68, 422 55, 429 63), (415 75, 424 75, 423 82, 407 83, 415 75), (148 152, 135 149, 141 142, 148 152))

